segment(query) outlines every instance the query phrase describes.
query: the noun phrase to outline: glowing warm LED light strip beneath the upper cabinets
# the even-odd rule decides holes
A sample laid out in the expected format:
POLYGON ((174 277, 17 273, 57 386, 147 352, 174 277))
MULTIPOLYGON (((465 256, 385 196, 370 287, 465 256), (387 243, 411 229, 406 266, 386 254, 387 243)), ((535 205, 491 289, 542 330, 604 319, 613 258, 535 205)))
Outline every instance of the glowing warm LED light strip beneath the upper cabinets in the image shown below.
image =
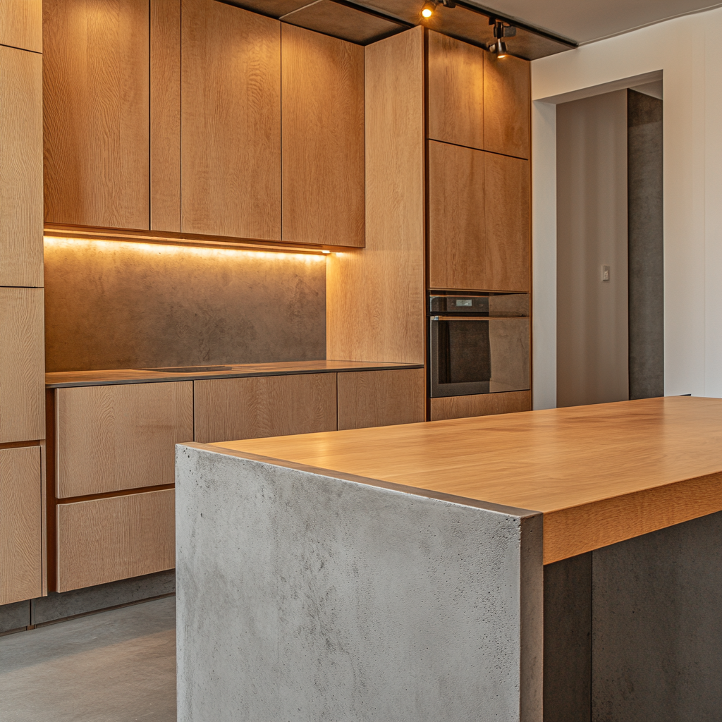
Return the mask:
POLYGON ((224 258, 233 256, 246 256, 248 258, 267 259, 272 261, 282 261, 287 258, 293 258, 296 261, 305 261, 307 263, 325 261, 330 251, 309 251, 308 253, 296 253, 294 251, 286 251, 279 249, 278 251, 256 251, 251 248, 219 248, 212 246, 204 248, 199 245, 186 245, 177 243, 152 243, 136 240, 97 240, 95 238, 63 238, 60 236, 46 235, 43 240, 48 245, 58 248, 73 248, 84 245, 86 248, 97 248, 99 251, 118 251, 126 248, 139 253, 148 253, 149 255, 161 256, 168 254, 183 254, 188 256, 201 256, 204 258, 224 258))

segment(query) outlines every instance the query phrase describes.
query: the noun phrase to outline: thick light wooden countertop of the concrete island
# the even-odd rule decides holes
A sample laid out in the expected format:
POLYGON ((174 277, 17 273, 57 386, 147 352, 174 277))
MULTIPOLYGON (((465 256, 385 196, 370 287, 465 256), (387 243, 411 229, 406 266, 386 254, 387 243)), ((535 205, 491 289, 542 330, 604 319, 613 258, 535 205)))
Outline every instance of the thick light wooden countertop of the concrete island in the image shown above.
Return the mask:
POLYGON ((722 510, 722 399, 666 396, 213 446, 541 511, 544 564, 722 510))

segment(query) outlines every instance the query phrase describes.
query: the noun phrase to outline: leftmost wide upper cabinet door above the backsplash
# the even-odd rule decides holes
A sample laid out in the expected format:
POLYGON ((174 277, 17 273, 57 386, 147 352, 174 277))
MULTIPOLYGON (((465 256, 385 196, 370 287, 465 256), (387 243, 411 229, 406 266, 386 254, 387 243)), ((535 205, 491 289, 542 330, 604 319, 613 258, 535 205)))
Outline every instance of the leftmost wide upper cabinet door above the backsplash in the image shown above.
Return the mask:
POLYGON ((149 228, 148 0, 43 1, 45 220, 149 228))

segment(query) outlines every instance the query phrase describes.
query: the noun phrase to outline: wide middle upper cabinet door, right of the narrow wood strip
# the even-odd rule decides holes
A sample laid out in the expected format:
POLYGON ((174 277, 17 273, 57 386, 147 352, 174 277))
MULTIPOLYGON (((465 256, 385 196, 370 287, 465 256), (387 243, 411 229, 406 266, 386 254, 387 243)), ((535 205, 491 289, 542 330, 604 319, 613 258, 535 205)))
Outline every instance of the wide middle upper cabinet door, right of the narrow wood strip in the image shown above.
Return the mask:
POLYGON ((281 23, 183 0, 182 230, 281 238, 281 23))

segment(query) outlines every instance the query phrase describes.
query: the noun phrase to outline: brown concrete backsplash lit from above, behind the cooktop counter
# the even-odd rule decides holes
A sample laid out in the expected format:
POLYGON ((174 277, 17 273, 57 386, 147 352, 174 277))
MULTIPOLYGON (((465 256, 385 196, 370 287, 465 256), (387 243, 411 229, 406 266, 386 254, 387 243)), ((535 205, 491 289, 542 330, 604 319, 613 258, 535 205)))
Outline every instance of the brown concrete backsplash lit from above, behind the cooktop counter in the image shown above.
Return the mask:
POLYGON ((323 256, 45 240, 48 372, 323 358, 323 256))

